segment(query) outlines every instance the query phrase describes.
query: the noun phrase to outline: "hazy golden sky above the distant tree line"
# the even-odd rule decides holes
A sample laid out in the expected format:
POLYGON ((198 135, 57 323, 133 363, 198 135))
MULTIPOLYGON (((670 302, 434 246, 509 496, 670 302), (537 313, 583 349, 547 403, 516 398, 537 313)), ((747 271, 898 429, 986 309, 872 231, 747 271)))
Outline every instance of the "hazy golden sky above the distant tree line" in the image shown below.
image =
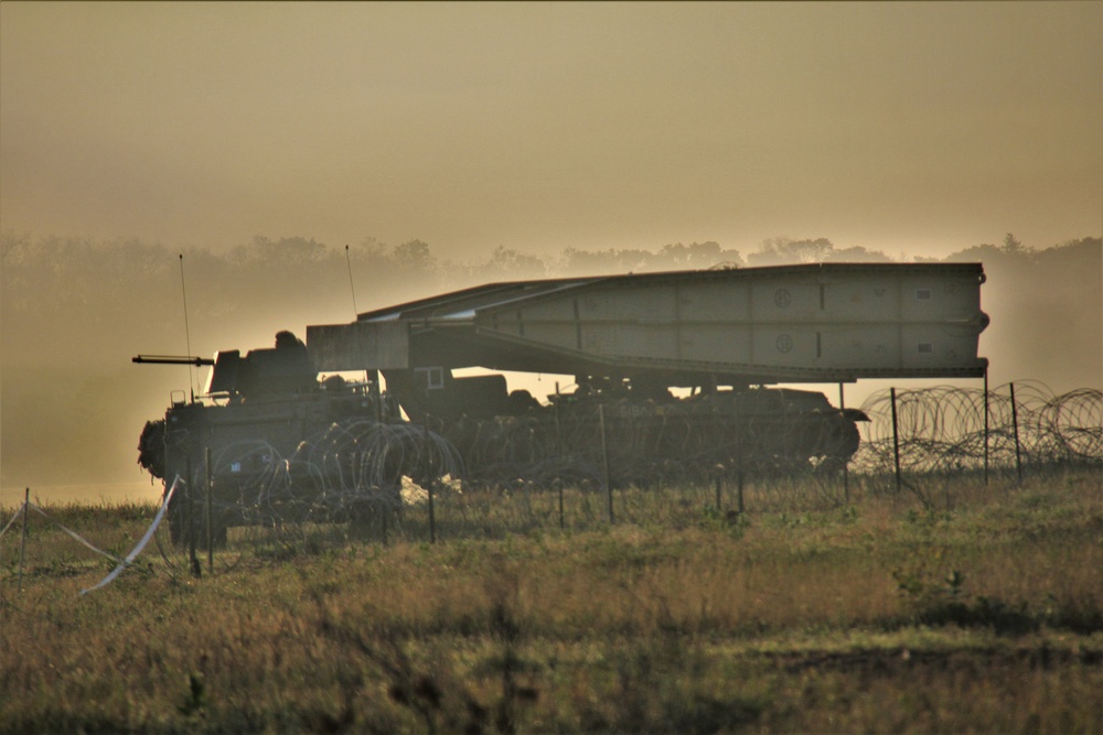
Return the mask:
POLYGON ((0 227, 944 256, 1103 230, 1103 3, 0 4, 0 227))

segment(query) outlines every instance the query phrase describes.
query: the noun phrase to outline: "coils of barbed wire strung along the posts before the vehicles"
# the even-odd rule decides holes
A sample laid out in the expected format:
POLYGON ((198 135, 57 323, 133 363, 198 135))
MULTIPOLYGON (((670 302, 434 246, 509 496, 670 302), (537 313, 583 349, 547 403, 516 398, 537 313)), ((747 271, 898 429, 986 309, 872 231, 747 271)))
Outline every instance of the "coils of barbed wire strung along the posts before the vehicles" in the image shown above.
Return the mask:
MULTIPOLYGON (((763 393, 767 394, 767 393, 763 393)), ((1037 382, 982 389, 934 387, 896 392, 901 468, 917 473, 1103 462, 1103 398, 1095 389, 1054 396, 1037 382)), ((722 400, 604 401, 604 435, 597 402, 543 407, 521 417, 462 419, 430 431, 414 423, 350 419, 331 424, 282 456, 261 440, 218 448, 211 474, 213 511, 226 525, 345 521, 399 510, 404 485, 442 477, 507 487, 517 480, 598 487, 608 456, 614 485, 641 487, 746 473, 837 469, 891 472, 895 463, 891 391, 868 398, 855 421, 829 406, 807 410, 738 411, 722 400), (858 443, 860 428, 861 441, 858 443), (603 447, 603 451, 602 451, 603 447), (856 452, 856 453, 855 453, 856 452), (853 454, 853 457, 852 457, 853 454), (408 478, 408 479, 404 479, 408 478)), ((199 466, 191 487, 202 487, 199 466)))

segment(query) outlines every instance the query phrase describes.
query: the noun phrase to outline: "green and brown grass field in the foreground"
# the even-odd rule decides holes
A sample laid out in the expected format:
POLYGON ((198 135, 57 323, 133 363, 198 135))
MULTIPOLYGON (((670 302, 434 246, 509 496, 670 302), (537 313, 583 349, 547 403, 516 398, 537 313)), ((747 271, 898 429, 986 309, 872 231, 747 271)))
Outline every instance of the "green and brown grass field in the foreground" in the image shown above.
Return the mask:
MULTIPOLYGON (((612 526, 568 491, 563 528, 469 491, 436 544, 424 509, 237 530, 213 574, 151 544, 85 596, 114 564, 33 514, 0 732, 1103 732, 1100 473, 910 487, 622 493, 612 526)), ((117 555, 156 512, 45 510, 117 555)))

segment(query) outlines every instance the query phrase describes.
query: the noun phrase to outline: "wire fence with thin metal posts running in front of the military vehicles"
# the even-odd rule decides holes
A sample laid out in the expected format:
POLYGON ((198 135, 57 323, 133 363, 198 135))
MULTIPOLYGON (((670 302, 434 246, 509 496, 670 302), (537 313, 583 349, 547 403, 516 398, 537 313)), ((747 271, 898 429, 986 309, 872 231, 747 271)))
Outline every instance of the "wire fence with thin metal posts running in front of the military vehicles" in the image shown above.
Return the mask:
POLYGON ((857 422, 829 406, 795 418, 718 415, 715 402, 705 406, 714 411, 656 421, 646 407, 613 403, 574 423, 558 414, 554 422, 472 422, 459 436, 429 422, 334 423, 286 458, 265 442, 224 446, 208 454, 210 469, 204 462, 185 482, 189 511, 174 517, 174 536, 200 533, 202 548, 195 529, 204 525, 295 534, 338 523, 431 541, 615 521, 677 525, 703 508, 725 517, 812 509, 848 502, 852 488, 907 489, 929 502, 931 488, 963 477, 1103 466, 1103 400, 1093 389, 889 389, 864 403, 869 421, 857 422), (840 446, 845 456, 857 450, 848 465, 833 461, 840 446), (817 454, 810 461, 810 453, 817 454))

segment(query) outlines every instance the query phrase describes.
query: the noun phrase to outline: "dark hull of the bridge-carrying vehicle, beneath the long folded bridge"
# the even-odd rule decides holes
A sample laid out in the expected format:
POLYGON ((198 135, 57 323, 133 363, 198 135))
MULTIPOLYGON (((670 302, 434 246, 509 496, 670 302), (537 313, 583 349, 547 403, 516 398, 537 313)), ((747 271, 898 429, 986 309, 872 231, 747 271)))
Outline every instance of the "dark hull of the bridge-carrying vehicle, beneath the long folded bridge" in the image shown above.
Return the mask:
POLYGON ((608 462, 611 484, 645 487, 699 482, 718 472, 840 466, 857 450, 853 420, 822 396, 815 408, 807 394, 789 403, 782 396, 762 391, 751 397, 757 406, 747 400, 743 408, 733 393, 684 401, 583 399, 524 417, 464 420, 446 435, 467 460, 469 479, 488 485, 598 483, 608 462), (773 404, 763 406, 763 396, 773 404))

